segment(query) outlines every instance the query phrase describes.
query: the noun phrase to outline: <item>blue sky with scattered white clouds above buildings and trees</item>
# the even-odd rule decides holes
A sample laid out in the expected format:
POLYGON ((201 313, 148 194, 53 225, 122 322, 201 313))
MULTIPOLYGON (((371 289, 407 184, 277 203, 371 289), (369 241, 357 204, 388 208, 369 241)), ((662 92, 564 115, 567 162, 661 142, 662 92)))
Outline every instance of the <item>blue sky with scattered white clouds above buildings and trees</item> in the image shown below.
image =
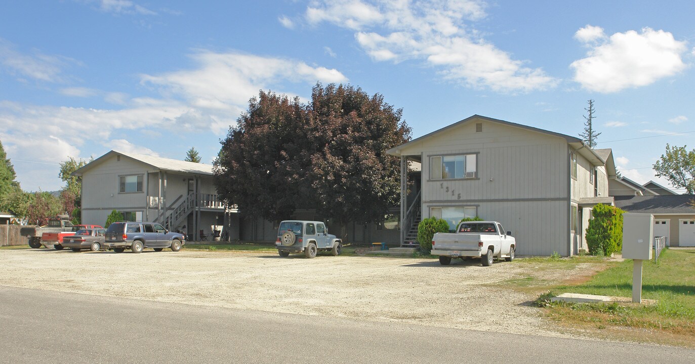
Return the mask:
POLYGON ((0 140, 24 190, 58 190, 69 156, 195 147, 211 163, 261 89, 308 99, 317 81, 358 85, 402 108, 414 138, 473 114, 577 135, 594 99, 597 148, 624 176, 667 184, 651 169, 666 144, 695 147, 694 13, 693 1, 6 1, 0 140))

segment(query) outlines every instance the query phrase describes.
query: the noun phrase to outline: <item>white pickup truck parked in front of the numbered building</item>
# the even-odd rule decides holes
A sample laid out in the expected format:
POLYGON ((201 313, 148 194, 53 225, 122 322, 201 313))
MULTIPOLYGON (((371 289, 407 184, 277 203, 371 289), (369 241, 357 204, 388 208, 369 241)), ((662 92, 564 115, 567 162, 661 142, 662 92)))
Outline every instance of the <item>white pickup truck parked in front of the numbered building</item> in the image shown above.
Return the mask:
POLYGON ((516 240, 512 231, 505 232, 496 221, 464 221, 456 233, 435 233, 432 238, 432 255, 439 256, 439 263, 448 265, 451 258, 480 257, 482 265, 489 267, 493 258, 514 260, 516 240))

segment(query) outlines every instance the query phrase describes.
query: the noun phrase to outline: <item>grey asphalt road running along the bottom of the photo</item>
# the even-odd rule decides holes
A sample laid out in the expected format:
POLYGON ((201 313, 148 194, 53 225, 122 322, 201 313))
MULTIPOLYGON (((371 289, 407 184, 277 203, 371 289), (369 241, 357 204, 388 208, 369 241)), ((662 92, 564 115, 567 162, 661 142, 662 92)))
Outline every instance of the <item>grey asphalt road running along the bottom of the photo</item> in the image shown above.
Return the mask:
POLYGON ((673 347, 0 286, 0 363, 691 364, 694 358, 695 350, 673 347))

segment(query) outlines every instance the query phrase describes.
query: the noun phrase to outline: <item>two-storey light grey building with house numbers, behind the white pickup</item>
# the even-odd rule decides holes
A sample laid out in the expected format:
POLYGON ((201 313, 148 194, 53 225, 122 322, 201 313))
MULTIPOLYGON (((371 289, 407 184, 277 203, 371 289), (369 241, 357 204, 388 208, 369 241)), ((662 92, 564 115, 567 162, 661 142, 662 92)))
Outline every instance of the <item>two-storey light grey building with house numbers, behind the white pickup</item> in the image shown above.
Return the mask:
POLYGON ((402 176, 409 161, 422 163, 416 199, 401 183, 406 227, 420 210, 451 229, 463 217, 497 220, 521 255, 577 254, 586 249, 591 208, 613 204, 610 149, 599 154, 580 138, 531 126, 473 115, 387 152, 400 156, 402 176))

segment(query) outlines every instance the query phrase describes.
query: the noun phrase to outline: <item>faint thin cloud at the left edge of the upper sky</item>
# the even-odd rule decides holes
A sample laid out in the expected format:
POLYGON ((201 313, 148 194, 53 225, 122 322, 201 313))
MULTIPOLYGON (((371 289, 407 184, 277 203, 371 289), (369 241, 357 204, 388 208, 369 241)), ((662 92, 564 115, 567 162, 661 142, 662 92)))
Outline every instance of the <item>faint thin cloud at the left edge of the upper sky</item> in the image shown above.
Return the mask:
POLYGON ((0 65, 10 74, 33 78, 37 81, 64 82, 63 69, 77 63, 72 58, 50 56, 38 50, 32 55, 19 52, 14 44, 0 38, 0 65))

